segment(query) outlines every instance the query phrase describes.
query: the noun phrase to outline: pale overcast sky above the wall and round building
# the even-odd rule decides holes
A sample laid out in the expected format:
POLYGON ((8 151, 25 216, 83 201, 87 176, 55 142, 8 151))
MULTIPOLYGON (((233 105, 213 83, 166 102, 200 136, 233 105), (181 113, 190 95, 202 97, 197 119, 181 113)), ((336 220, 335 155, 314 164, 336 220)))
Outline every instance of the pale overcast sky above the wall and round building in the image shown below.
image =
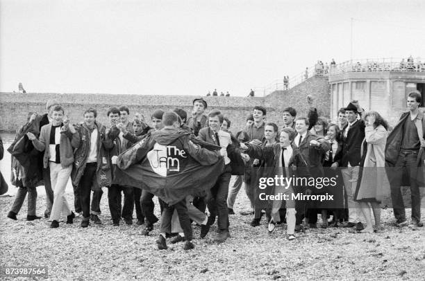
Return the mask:
POLYGON ((423 57, 425 1, 0 0, 0 91, 247 96, 317 62, 423 57))

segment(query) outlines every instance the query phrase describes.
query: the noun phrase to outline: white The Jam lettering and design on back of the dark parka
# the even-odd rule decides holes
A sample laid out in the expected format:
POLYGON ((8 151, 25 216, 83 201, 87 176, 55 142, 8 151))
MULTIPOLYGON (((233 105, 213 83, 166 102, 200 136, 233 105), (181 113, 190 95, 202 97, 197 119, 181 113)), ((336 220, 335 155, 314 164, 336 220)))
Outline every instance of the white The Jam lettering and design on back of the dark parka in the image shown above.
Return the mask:
POLYGON ((167 176, 169 172, 180 172, 181 161, 188 158, 183 149, 175 145, 160 145, 156 143, 147 153, 153 172, 160 176, 167 176))

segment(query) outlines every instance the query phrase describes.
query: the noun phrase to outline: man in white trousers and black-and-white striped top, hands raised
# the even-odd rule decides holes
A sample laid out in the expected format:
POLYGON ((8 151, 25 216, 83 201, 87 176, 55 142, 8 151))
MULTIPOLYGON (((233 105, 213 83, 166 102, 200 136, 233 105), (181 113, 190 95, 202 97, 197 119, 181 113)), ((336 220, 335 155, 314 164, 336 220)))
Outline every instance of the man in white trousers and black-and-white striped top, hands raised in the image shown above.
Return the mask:
POLYGON ((49 166, 53 186, 53 206, 51 208, 51 228, 59 227, 60 213, 67 214, 67 224, 72 224, 75 217, 65 198, 65 188, 74 163, 74 148, 80 145, 80 138, 74 126, 64 118, 60 105, 52 107, 52 123, 44 125, 38 140, 32 133, 28 138, 40 152, 44 152, 43 167, 49 166))

